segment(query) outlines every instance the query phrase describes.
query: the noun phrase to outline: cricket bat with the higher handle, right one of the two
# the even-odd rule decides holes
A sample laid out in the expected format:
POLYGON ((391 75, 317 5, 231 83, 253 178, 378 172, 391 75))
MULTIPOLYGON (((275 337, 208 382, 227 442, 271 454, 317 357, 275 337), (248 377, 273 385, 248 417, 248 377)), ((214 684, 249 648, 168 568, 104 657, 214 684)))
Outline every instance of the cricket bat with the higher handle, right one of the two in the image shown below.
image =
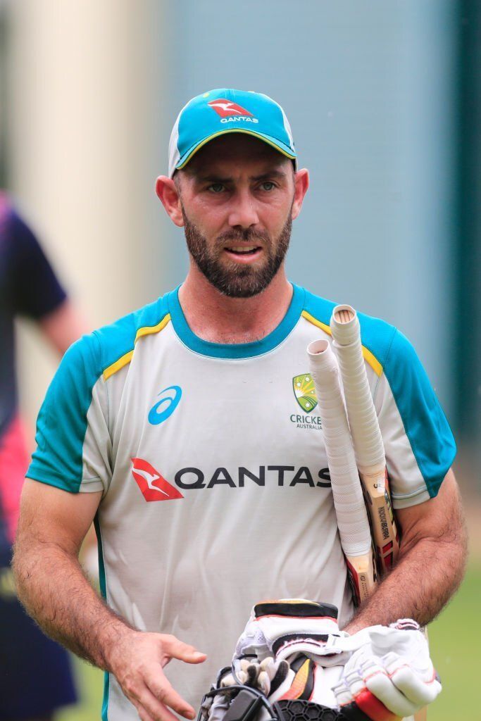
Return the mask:
POLYGON ((336 306, 332 311, 330 327, 332 345, 340 366, 356 463, 371 518, 377 567, 382 575, 392 568, 397 559, 399 534, 389 497, 384 443, 364 365, 356 311, 351 306, 336 306))

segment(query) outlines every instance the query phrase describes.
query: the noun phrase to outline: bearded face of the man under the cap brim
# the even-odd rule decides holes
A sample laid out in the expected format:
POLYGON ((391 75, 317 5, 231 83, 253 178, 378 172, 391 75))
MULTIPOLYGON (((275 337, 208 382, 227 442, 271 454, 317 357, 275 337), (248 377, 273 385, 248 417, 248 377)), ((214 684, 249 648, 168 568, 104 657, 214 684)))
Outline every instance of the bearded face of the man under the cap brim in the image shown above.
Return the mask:
POLYGON ((237 298, 267 288, 291 237, 292 162, 235 133, 208 143, 176 185, 187 247, 207 280, 237 298))

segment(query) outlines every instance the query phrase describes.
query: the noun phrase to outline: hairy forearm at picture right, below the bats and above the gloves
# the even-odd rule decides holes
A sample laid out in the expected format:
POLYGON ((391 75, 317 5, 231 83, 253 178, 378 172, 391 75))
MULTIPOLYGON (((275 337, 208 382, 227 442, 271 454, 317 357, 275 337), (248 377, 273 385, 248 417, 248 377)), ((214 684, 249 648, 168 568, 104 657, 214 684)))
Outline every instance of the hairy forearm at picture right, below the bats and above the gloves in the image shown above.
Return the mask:
POLYGON ((467 538, 464 526, 437 538, 401 545, 400 558, 346 626, 350 633, 374 624, 412 618, 430 623, 455 593, 464 576, 467 538))

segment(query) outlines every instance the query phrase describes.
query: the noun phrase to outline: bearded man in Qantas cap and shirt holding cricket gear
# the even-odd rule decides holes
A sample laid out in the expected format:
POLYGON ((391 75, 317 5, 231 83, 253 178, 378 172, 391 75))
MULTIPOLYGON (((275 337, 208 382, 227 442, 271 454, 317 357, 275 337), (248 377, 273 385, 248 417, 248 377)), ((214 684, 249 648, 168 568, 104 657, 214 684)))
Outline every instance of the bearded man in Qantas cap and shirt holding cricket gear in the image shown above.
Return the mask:
MULTIPOLYGON (((320 598, 341 624, 353 614, 317 401, 304 392, 306 346, 327 337, 333 304, 284 270, 308 185, 273 100, 229 89, 191 100, 156 183, 185 231, 187 278, 76 343, 40 411, 17 583, 48 633, 108 671, 104 719, 193 718, 262 598, 320 598), (108 606, 76 561, 92 518, 108 606), (196 648, 208 661, 172 664, 171 685, 164 665, 203 662, 196 648)), ((407 340, 361 324, 403 544, 350 631, 428 622, 465 554, 444 414, 407 340)))

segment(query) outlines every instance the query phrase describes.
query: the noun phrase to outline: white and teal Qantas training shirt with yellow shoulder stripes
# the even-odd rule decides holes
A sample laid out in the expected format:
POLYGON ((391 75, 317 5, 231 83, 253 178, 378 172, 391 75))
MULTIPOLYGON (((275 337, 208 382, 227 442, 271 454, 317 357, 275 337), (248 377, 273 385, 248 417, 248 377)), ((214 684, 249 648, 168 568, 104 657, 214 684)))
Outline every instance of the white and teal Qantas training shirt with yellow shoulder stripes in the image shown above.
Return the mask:
MULTIPOLYGON (((74 343, 40 410, 28 477, 102 491, 102 593, 208 654, 166 668, 194 707, 256 601, 327 601, 341 624, 352 611, 306 355, 333 306, 294 286, 270 335, 221 345, 193 334, 172 291, 74 343)), ((453 461, 451 430, 406 338, 360 322, 394 508, 423 503, 453 461)), ((103 718, 137 718, 112 676, 103 718)))

